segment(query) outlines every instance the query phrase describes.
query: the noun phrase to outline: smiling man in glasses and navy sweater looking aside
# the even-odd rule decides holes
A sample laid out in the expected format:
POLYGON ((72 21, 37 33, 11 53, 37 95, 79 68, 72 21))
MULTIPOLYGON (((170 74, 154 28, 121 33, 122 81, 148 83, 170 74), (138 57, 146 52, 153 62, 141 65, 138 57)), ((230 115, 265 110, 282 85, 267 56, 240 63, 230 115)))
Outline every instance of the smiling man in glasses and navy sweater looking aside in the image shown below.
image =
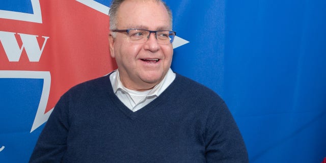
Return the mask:
POLYGON ((61 97, 30 162, 248 162, 224 101, 170 69, 166 4, 117 0, 110 16, 118 69, 61 97))

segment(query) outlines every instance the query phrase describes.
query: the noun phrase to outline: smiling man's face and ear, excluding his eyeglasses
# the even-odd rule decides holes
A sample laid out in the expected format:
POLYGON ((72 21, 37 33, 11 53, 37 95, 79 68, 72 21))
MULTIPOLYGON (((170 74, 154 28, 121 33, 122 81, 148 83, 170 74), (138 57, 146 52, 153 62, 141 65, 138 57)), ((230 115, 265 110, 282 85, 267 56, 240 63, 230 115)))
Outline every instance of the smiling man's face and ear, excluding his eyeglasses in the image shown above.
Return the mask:
MULTIPOLYGON (((118 10, 117 22, 119 30, 171 30, 166 8, 154 1, 123 2, 118 10)), ((110 36, 110 51, 116 59, 122 84, 138 91, 158 84, 168 72, 173 56, 172 44, 158 44, 154 33, 145 43, 129 42, 127 33, 116 33, 114 39, 110 36)))

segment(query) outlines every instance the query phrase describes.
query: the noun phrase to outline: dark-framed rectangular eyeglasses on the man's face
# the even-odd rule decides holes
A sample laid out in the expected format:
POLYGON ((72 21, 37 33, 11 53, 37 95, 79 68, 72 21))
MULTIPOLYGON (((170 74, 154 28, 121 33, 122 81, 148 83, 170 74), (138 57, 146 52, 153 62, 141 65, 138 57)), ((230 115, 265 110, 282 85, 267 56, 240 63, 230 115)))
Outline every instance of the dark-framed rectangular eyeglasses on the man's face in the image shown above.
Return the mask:
POLYGON ((144 43, 149 39, 150 34, 154 33, 159 44, 172 44, 176 34, 174 31, 149 31, 143 29, 112 30, 112 32, 126 32, 129 41, 134 43, 144 43))

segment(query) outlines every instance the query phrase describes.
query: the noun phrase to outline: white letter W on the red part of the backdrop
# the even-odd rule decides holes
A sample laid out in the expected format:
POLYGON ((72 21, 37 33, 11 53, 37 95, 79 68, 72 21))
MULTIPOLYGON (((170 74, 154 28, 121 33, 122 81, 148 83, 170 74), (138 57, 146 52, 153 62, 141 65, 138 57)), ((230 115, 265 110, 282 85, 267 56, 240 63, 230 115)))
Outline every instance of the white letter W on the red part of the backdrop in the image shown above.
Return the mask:
POLYGON ((23 48, 25 48, 30 62, 39 62, 44 46, 49 37, 42 36, 44 38, 44 42, 42 48, 40 49, 36 39, 38 36, 19 33, 18 35, 22 41, 21 48, 19 48, 15 33, 0 31, 0 41, 2 42, 2 45, 5 49, 8 60, 10 62, 18 62, 21 56, 21 52, 23 48))

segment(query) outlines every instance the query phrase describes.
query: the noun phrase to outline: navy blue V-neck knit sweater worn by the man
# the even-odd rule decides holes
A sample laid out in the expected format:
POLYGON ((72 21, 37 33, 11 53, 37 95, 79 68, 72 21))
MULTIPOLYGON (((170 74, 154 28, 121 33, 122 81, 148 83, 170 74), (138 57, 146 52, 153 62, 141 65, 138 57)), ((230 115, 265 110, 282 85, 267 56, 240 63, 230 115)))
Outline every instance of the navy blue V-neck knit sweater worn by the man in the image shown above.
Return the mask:
POLYGON ((61 97, 30 162, 248 162, 248 154, 226 104, 203 85, 177 74, 132 112, 107 75, 61 97))

